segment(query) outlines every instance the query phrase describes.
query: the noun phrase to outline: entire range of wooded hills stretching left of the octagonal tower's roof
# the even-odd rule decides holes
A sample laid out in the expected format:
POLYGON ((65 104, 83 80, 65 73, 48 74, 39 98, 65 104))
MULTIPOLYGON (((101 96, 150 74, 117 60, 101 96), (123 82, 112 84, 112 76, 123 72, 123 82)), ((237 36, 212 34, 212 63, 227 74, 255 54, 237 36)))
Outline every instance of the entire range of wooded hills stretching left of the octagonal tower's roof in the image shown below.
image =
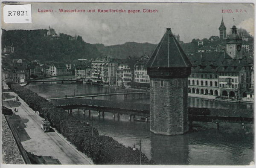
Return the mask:
POLYGON ((91 59, 103 56, 111 58, 128 58, 148 56, 156 45, 151 43, 127 42, 121 45, 104 46, 90 44, 83 41, 81 36, 77 40, 69 40, 70 35, 60 34, 60 37, 44 36, 47 29, 38 30, 9 30, 2 29, 2 51, 4 46, 15 47, 15 52, 9 57, 23 58, 28 61, 73 61, 77 59, 91 59))

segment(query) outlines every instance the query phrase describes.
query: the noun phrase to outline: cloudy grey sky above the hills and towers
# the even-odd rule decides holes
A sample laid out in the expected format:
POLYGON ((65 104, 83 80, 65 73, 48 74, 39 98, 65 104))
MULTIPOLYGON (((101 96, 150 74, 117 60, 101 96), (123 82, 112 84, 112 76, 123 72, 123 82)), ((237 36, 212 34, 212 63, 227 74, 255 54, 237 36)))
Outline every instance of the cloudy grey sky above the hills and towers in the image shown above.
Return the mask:
MULTIPOLYGON (((27 3, 26 3, 27 4, 27 3)), ((180 41, 219 35, 223 17, 227 33, 233 26, 254 36, 254 5, 251 3, 31 3, 32 23, 4 23, 2 29, 48 29, 68 35, 80 35, 87 43, 105 46, 125 42, 159 43, 166 28, 180 35, 180 41), (53 12, 38 12, 52 9, 53 12), (60 13, 59 9, 84 9, 84 13, 60 13), (87 12, 96 9, 96 12, 87 12), (99 13, 98 9, 123 9, 125 13, 99 13), (143 9, 157 13, 143 13, 143 9), (223 13, 231 9, 232 13, 223 13), (140 10, 130 13, 128 10, 140 10), (239 12, 236 12, 238 10, 239 12), (240 12, 240 10, 242 12, 240 12), (55 12, 56 11, 56 12, 55 12), (246 11, 246 12, 244 12, 246 11)))

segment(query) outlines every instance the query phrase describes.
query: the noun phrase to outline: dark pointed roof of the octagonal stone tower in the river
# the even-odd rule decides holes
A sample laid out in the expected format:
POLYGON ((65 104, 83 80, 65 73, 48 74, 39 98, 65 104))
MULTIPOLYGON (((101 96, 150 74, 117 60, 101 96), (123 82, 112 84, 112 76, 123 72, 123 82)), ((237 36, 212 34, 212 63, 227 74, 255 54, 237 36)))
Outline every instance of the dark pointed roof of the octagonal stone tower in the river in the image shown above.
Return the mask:
POLYGON ((171 28, 167 28, 145 67, 182 68, 192 67, 192 64, 172 34, 171 28))

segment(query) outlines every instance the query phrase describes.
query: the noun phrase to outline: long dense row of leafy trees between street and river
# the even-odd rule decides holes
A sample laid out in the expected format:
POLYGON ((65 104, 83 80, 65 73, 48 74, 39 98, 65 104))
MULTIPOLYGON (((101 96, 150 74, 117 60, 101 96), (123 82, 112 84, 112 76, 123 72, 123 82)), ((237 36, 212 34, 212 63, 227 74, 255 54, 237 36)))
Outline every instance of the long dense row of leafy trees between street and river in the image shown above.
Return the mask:
MULTIPOLYGON (((115 164, 115 165, 138 165, 140 164, 140 151, 133 151, 131 147, 125 147, 109 136, 99 135, 93 128, 91 135, 91 125, 83 125, 74 116, 65 110, 59 109, 47 101, 18 84, 7 83, 9 87, 17 93, 33 110, 39 111, 40 116, 49 120, 52 127, 55 127, 63 136, 70 140, 79 151, 84 152, 93 159, 95 164, 115 164)), ((153 160, 148 160, 142 153, 142 164, 155 164, 153 160)))

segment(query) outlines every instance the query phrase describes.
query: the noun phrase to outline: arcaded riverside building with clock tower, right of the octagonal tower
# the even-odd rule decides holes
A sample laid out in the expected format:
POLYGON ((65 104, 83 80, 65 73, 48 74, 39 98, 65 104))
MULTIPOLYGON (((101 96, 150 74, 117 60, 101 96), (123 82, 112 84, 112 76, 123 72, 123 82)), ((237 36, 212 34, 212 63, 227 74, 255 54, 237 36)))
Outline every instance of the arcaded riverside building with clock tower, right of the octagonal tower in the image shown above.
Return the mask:
POLYGON ((250 90, 253 59, 242 55, 242 39, 237 35, 236 26, 227 36, 226 49, 222 52, 196 52, 189 56, 192 74, 188 78, 188 92, 210 96, 232 98, 252 96, 250 90))

